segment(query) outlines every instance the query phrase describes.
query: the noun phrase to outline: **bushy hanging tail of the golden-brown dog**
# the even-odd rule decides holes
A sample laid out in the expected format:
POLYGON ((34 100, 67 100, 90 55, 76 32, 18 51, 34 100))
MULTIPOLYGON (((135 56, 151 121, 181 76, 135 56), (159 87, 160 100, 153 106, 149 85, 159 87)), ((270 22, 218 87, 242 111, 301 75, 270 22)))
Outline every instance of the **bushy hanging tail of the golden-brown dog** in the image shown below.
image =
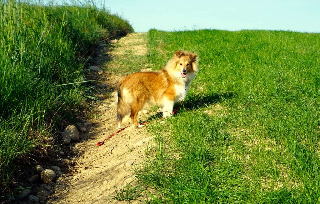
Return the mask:
POLYGON ((123 88, 123 84, 119 82, 117 87, 117 93, 115 96, 115 101, 117 101, 117 118, 116 125, 121 128, 122 119, 131 113, 131 103, 132 96, 129 91, 123 88))

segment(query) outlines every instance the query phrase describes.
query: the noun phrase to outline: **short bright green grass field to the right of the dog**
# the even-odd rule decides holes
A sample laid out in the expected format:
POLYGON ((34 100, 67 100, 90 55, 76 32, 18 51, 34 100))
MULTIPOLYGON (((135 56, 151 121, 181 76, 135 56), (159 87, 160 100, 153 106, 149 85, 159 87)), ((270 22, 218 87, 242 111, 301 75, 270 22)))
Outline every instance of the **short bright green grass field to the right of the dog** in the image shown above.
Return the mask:
POLYGON ((151 203, 320 202, 319 39, 150 30, 156 69, 183 49, 199 55, 200 71, 178 115, 147 127, 153 154, 118 199, 147 189, 151 203))

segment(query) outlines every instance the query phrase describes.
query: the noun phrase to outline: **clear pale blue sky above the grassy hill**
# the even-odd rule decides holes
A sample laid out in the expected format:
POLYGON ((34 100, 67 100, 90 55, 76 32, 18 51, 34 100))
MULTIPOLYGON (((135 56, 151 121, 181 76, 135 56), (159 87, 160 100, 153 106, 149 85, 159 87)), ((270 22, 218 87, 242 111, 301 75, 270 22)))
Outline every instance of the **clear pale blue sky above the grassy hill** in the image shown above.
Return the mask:
MULTIPOLYGON (((67 1, 68 2, 68 1, 67 1)), ((80 1, 81 2, 81 1, 80 1)), ((320 32, 320 0, 93 0, 132 24, 158 30, 320 32)))

